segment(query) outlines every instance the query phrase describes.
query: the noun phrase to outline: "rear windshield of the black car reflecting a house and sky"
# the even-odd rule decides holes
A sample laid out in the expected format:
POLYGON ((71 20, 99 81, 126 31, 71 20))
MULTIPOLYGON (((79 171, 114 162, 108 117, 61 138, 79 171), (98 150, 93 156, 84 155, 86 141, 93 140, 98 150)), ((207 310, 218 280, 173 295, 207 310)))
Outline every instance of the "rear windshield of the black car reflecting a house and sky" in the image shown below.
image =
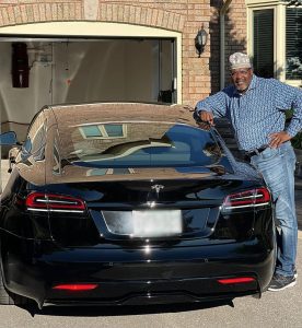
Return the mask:
POLYGON ((170 122, 102 122, 69 127, 62 157, 95 167, 191 167, 220 162, 221 149, 207 129, 170 122))

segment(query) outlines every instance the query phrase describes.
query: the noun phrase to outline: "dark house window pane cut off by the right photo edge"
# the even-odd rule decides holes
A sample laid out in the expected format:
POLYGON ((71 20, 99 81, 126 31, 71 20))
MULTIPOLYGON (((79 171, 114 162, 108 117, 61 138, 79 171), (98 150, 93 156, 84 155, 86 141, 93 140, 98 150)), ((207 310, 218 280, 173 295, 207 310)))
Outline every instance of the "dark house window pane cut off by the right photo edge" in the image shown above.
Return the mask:
POLYGON ((302 79, 302 9, 286 10, 286 79, 302 79))

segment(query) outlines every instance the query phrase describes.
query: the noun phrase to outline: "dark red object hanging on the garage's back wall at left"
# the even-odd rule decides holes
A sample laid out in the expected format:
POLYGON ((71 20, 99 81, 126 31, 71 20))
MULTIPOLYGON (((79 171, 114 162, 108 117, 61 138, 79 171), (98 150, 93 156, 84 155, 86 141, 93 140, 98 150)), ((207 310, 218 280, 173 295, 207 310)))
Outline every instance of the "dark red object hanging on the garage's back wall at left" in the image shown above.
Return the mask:
POLYGON ((12 44, 12 86, 28 87, 30 67, 27 45, 25 43, 12 44))

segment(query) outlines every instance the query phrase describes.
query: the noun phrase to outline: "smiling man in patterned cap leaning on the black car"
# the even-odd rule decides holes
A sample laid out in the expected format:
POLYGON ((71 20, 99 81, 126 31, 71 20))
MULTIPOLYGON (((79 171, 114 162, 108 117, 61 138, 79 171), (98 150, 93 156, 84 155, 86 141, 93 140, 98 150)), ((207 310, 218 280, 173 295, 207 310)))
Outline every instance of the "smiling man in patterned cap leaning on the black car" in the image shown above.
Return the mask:
POLYGON ((249 58, 230 56, 233 85, 197 103, 195 115, 213 125, 213 117, 232 124, 239 148, 263 175, 276 202, 279 221, 278 256, 268 290, 293 286, 298 223, 294 204, 295 155, 290 139, 302 127, 302 91, 253 73, 249 58), (284 112, 293 109, 288 127, 284 112))

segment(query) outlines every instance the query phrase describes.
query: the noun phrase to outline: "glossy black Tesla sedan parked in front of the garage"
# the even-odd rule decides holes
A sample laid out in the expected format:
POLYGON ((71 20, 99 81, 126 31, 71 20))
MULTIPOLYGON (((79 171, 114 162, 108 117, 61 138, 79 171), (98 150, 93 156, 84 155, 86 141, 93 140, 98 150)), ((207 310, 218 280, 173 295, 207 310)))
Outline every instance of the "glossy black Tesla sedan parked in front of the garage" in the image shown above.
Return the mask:
POLYGON ((10 161, 2 303, 232 300, 271 279, 268 189, 184 106, 47 106, 10 161))

